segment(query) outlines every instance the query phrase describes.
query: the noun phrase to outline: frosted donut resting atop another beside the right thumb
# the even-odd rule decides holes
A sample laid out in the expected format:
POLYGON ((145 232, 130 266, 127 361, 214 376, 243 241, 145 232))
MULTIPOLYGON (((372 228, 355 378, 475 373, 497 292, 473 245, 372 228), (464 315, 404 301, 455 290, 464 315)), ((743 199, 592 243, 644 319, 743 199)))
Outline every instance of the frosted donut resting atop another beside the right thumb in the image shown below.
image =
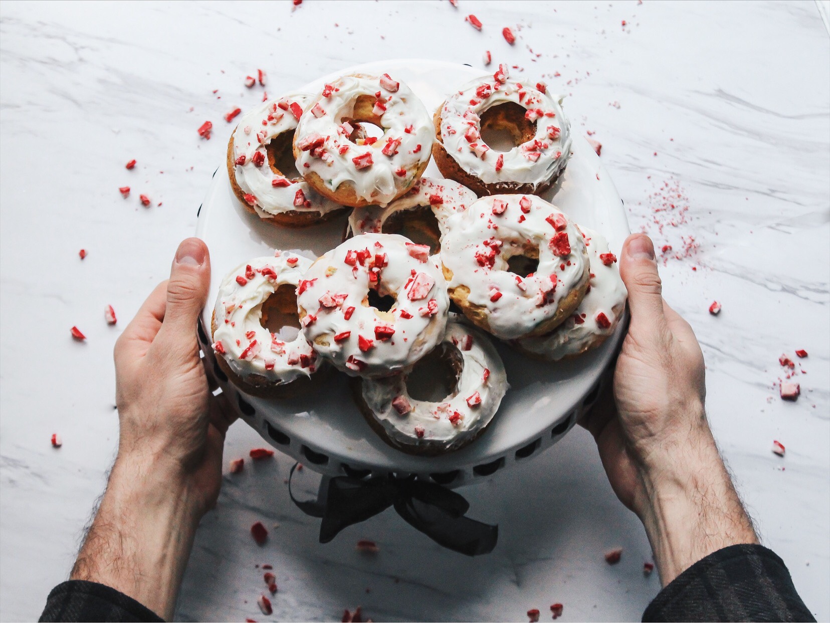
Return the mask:
POLYGON ((535 195, 479 199, 447 220, 441 248, 450 298, 498 338, 549 333, 588 289, 582 234, 535 195))

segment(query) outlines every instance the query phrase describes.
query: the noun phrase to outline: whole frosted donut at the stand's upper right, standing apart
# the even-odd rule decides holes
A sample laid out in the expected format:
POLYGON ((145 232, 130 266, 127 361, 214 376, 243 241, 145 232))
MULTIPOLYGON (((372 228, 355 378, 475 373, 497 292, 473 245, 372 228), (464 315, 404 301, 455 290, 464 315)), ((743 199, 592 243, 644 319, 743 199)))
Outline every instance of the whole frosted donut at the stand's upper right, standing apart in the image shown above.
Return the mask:
POLYGON ((564 171, 570 157, 570 123, 562 98, 544 82, 509 80, 507 67, 472 80, 439 106, 433 117, 432 156, 445 178, 479 197, 504 192, 539 194, 564 171), (515 147, 498 152, 481 129, 507 130, 515 147))

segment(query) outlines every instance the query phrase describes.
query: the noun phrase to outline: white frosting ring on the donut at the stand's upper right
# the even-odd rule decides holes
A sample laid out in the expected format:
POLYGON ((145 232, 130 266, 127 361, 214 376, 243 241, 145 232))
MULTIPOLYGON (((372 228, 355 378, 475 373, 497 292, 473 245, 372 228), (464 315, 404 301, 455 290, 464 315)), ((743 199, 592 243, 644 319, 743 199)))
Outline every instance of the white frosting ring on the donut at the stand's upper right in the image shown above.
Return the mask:
MULTIPOLYGON (((441 110, 441 142, 447 153, 467 173, 487 184, 548 183, 570 157, 570 123, 562 110, 563 97, 539 90, 529 82, 506 78, 500 66, 496 76, 472 80, 449 98, 441 110), (533 139, 500 153, 481 140, 481 118, 485 110, 506 102, 523 106, 525 116, 535 120, 533 139)), ((538 83, 541 85, 541 83, 538 83)))

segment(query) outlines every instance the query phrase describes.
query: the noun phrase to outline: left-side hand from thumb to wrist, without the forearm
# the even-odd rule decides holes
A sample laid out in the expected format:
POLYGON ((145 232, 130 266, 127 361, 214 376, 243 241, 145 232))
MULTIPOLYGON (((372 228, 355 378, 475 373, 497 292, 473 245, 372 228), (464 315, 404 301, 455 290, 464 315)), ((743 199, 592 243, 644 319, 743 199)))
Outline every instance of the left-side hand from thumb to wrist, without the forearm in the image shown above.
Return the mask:
POLYGON ((231 410, 212 397, 199 359, 196 323, 207 299, 210 256, 188 238, 170 279, 159 284, 115 343, 119 460, 150 462, 180 480, 203 514, 216 503, 231 410))

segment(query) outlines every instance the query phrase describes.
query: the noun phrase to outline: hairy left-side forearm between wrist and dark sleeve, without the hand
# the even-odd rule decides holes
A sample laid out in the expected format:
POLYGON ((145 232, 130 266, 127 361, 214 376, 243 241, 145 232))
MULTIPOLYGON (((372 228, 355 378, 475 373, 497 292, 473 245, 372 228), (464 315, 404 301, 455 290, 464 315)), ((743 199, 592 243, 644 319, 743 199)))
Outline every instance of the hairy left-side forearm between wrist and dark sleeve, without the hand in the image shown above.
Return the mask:
POLYGON ((187 487, 153 460, 120 456, 70 578, 112 586, 170 619, 197 525, 187 487))

